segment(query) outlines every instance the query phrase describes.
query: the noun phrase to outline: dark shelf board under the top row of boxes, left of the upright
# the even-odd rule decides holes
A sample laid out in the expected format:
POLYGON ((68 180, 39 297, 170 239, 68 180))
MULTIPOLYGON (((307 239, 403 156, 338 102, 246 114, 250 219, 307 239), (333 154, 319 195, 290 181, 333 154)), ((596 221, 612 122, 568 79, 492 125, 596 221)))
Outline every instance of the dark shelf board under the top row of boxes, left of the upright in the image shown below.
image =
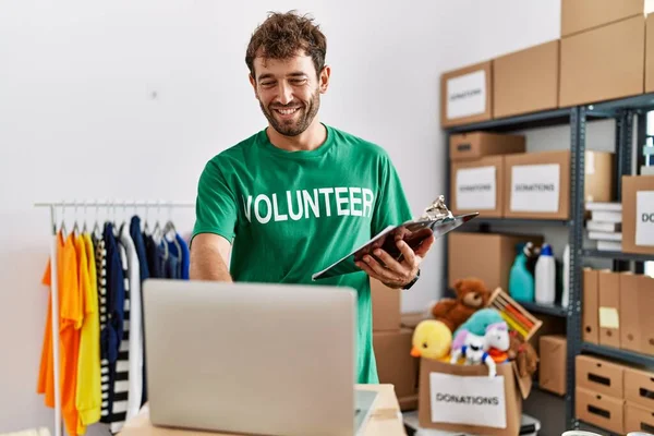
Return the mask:
POLYGON ((482 121, 473 124, 458 125, 447 129, 449 133, 472 132, 475 130, 507 132, 523 129, 561 125, 570 122, 570 109, 555 109, 544 112, 507 117, 497 120, 482 121))

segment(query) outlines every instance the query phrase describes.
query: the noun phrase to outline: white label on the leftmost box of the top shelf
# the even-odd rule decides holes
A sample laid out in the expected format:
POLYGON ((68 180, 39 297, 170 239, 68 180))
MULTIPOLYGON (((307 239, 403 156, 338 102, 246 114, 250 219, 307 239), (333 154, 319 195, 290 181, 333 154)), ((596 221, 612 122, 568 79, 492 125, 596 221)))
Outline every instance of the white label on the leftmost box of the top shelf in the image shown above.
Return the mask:
POLYGON ((479 116, 486 111, 486 71, 475 71, 447 81, 447 119, 479 116))

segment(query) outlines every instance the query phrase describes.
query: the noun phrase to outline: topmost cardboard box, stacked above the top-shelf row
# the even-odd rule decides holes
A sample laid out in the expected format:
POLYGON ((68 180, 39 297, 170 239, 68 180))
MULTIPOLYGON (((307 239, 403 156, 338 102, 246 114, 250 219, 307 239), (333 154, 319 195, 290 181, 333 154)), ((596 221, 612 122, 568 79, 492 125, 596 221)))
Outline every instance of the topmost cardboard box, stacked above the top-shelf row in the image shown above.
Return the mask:
POLYGON ((645 0, 561 0, 561 36, 643 15, 645 0))

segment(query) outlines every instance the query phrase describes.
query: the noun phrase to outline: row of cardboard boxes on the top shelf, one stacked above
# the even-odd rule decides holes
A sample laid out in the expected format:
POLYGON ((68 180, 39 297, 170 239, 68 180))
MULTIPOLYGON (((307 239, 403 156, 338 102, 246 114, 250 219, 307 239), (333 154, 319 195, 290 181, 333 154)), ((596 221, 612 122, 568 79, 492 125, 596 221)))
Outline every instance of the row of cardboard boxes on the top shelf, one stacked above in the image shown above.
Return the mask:
POLYGON ((560 39, 443 74, 441 125, 653 92, 651 3, 561 0, 560 39))

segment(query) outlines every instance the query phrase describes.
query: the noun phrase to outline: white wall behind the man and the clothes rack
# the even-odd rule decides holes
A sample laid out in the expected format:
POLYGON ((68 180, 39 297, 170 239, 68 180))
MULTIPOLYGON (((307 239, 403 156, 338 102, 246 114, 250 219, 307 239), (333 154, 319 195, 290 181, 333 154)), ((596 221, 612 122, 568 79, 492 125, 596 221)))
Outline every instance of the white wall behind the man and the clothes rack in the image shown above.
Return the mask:
MULTIPOLYGON (((49 218, 34 202, 194 201, 205 161, 265 125, 243 61, 251 32, 298 4, 0 3, 0 432, 53 416, 35 393, 49 218)), ((328 36, 323 120, 388 149, 415 214, 445 185, 439 74, 559 36, 558 0, 301 4, 328 36)), ((192 210, 174 217, 193 222, 192 210)), ((439 295, 441 249, 404 311, 439 295)))

